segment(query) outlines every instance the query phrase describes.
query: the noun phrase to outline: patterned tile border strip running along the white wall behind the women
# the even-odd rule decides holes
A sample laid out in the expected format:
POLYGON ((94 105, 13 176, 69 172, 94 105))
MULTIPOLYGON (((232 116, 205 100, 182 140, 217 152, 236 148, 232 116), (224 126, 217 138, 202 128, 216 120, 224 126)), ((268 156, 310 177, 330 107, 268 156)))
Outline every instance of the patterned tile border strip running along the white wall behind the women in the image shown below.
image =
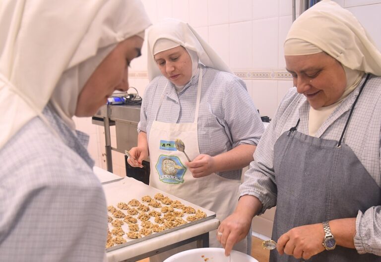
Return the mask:
MULTIPOLYGON (((286 70, 245 70, 233 71, 238 77, 248 80, 288 80, 292 76, 286 70)), ((148 78, 147 71, 128 72, 130 78, 148 78)))

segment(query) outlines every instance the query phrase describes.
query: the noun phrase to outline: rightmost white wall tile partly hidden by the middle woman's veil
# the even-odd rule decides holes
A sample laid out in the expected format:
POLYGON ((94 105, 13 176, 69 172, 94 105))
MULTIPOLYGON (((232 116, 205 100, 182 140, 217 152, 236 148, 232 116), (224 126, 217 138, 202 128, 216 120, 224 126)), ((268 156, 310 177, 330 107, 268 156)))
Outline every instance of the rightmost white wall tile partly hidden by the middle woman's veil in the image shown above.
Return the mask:
POLYGON ((229 25, 209 26, 209 44, 221 59, 229 65, 229 25))

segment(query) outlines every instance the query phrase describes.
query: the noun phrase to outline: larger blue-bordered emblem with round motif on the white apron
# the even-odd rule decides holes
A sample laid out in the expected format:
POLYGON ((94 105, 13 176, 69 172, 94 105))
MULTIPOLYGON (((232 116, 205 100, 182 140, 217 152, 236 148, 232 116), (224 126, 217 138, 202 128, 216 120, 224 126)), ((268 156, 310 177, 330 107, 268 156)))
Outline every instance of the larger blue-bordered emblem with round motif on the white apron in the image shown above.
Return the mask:
POLYGON ((161 182, 168 184, 184 183, 183 177, 187 168, 177 156, 160 155, 155 168, 161 182))

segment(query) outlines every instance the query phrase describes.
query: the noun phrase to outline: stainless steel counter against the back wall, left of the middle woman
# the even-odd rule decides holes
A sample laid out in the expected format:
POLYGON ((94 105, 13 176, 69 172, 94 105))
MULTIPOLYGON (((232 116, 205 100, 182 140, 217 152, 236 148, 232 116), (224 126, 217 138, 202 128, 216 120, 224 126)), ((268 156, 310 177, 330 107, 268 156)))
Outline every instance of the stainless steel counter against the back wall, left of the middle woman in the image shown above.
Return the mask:
POLYGON ((105 128, 107 171, 113 172, 111 150, 125 153, 137 145, 137 124, 140 105, 104 105, 92 118, 92 123, 105 128), (111 146, 110 127, 115 126, 117 147, 111 146))

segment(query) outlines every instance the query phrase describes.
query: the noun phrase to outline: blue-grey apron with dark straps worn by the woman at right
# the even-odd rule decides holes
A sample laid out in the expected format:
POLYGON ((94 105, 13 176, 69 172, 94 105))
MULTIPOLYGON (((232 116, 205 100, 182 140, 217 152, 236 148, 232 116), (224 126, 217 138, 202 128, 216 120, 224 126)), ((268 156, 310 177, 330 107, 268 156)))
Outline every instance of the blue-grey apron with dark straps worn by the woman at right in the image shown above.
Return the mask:
MULTIPOLYGON (((296 131, 284 132, 274 145, 274 171, 278 190, 272 239, 290 229, 338 218, 356 217, 381 204, 381 190, 363 164, 345 143, 341 143, 356 102, 352 106, 339 141, 320 139, 296 131)), ((299 262, 286 254, 270 253, 270 262, 299 262)), ((336 246, 308 262, 381 262, 373 254, 336 246)))

